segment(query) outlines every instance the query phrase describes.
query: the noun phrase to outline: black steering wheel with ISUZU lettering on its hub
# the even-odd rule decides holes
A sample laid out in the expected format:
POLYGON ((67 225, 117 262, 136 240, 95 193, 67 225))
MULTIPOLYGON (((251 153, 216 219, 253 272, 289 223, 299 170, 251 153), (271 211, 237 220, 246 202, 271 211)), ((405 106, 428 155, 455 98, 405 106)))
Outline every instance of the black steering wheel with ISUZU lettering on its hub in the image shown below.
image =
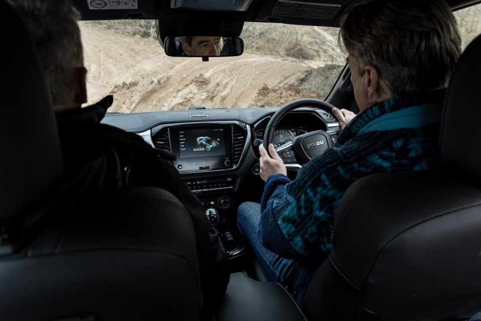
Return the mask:
MULTIPOLYGON (((267 152, 269 153, 269 144, 272 143, 274 137, 274 131, 277 125, 290 111, 299 107, 316 107, 327 111, 334 118, 332 113, 333 105, 320 99, 298 99, 291 101, 290 103, 281 107, 272 116, 267 124, 266 130, 264 132, 264 141, 256 139, 254 141, 255 146, 259 146, 261 143, 264 144, 267 152)), ((331 135, 325 130, 315 130, 296 137, 291 140, 284 142, 282 145, 276 148, 278 155, 283 159, 284 163, 287 164, 299 164, 303 165, 309 162, 314 156, 322 154, 327 148, 334 146, 331 135)))

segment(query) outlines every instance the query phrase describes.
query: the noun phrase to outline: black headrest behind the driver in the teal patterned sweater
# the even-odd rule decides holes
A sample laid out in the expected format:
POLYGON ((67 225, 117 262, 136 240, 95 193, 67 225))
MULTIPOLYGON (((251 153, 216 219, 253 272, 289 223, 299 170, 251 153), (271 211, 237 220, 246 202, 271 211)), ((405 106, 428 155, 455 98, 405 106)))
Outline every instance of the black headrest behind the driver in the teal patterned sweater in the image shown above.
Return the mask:
POLYGON ((481 179, 481 35, 464 50, 450 78, 439 147, 443 170, 481 179))

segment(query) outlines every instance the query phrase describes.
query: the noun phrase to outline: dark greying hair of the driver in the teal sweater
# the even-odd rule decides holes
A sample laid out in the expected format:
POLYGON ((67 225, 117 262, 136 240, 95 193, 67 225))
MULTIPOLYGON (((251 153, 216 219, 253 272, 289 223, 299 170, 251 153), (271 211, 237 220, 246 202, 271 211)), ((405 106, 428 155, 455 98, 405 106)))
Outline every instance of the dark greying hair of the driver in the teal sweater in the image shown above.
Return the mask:
POLYGON ((460 55, 456 20, 442 0, 374 0, 341 19, 339 43, 372 65, 392 96, 446 85, 460 55))

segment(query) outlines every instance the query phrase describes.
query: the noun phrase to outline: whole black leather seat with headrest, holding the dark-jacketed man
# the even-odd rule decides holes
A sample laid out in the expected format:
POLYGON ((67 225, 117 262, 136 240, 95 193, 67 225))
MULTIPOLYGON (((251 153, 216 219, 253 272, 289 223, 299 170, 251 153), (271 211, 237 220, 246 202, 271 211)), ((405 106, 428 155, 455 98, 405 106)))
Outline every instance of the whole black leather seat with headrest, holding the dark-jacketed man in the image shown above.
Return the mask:
POLYGON ((0 320, 198 320, 193 224, 172 194, 63 203, 44 75, 19 15, 5 0, 0 13, 0 320))

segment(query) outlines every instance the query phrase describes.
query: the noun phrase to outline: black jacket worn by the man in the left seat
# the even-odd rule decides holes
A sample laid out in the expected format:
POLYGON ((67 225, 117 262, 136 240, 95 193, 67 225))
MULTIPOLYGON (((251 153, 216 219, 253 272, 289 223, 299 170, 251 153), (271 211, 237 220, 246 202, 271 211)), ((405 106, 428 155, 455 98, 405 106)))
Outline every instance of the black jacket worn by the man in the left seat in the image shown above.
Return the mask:
POLYGON ((112 101, 107 96, 95 105, 57 113, 65 180, 77 194, 152 186, 176 196, 194 224, 204 305, 215 305, 230 275, 217 231, 172 165, 173 153, 153 148, 135 133, 100 123, 112 101))

